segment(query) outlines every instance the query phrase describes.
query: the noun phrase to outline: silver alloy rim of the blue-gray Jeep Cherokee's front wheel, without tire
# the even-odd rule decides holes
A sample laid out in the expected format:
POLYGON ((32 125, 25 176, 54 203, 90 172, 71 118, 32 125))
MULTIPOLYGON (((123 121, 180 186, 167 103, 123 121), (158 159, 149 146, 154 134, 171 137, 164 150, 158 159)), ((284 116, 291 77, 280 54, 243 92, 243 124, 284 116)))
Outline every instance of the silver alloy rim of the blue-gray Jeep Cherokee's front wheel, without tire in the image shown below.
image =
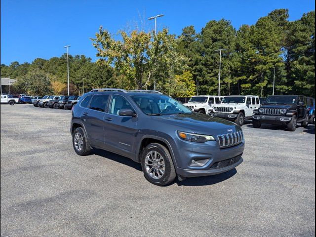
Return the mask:
POLYGON ((145 167, 148 175, 154 179, 160 179, 165 171, 164 159, 160 153, 150 151, 145 158, 145 167))

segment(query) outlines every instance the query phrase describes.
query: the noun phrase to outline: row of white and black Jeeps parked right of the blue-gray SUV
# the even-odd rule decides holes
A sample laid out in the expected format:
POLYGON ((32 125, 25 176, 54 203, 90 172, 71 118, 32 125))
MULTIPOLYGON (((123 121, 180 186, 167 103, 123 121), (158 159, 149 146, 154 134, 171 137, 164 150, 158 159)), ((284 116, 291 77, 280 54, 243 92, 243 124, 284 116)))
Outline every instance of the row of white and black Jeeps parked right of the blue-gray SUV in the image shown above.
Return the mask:
POLYGON ((193 96, 184 105, 194 112, 234 121, 239 126, 245 119, 250 119, 255 128, 260 128, 262 123, 282 124, 295 131, 297 123, 307 127, 315 120, 315 99, 301 95, 272 95, 268 98, 204 95, 193 96))

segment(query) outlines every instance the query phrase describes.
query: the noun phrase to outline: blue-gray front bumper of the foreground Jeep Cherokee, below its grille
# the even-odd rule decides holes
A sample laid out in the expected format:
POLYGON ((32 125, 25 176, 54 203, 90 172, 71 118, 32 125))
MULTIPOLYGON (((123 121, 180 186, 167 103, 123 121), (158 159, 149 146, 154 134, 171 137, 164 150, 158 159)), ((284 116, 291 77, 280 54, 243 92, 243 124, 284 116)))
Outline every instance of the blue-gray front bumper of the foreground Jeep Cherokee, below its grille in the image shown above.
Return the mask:
POLYGON ((202 144, 174 140, 176 172, 183 177, 198 177, 227 172, 239 165, 243 159, 244 139, 236 146, 219 148, 218 141, 202 144), (194 162, 193 162, 194 160, 194 162), (200 162, 200 165, 194 166, 200 162), (217 166, 217 163, 224 165, 217 166))

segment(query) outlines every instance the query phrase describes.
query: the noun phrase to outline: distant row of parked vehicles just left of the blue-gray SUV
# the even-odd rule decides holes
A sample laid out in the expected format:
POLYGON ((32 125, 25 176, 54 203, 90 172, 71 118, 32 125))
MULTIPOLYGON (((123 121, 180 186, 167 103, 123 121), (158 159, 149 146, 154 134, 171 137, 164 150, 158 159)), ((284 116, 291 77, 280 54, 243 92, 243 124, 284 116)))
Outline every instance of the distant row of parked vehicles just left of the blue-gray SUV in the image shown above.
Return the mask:
POLYGON ((34 99, 33 105, 41 108, 71 110, 79 101, 80 96, 45 95, 40 99, 34 99))

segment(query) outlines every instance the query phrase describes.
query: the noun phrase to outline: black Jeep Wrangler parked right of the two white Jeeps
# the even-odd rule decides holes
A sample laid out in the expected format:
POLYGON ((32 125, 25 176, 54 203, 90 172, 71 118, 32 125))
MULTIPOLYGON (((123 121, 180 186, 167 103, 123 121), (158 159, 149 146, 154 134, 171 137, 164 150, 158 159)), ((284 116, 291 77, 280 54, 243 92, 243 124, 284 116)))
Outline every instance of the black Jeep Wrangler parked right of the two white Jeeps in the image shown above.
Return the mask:
POLYGON ((284 124, 289 131, 295 131, 297 123, 308 126, 308 107, 302 95, 271 95, 265 103, 254 110, 252 125, 260 128, 262 123, 284 124))

